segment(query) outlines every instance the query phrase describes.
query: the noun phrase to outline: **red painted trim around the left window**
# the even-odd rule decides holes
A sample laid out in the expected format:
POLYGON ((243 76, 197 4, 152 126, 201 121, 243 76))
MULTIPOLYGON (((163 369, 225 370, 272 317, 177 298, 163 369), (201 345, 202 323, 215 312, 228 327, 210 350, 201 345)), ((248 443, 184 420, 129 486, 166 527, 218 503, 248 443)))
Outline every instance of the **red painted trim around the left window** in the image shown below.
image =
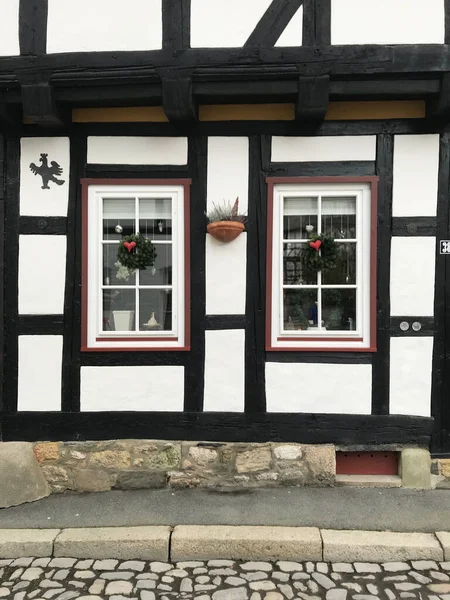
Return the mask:
MULTIPOLYGON (((191 241, 190 241, 190 186, 191 179, 81 179, 81 351, 82 352, 159 352, 187 351, 191 349, 191 241), (87 344, 88 327, 88 188, 90 185, 180 185, 184 188, 184 346, 154 346, 148 347, 104 347, 91 348, 87 344)), ((128 342, 168 341, 169 338, 101 338, 105 343, 123 339, 128 342)), ((177 338, 170 338, 176 342, 177 338)))

